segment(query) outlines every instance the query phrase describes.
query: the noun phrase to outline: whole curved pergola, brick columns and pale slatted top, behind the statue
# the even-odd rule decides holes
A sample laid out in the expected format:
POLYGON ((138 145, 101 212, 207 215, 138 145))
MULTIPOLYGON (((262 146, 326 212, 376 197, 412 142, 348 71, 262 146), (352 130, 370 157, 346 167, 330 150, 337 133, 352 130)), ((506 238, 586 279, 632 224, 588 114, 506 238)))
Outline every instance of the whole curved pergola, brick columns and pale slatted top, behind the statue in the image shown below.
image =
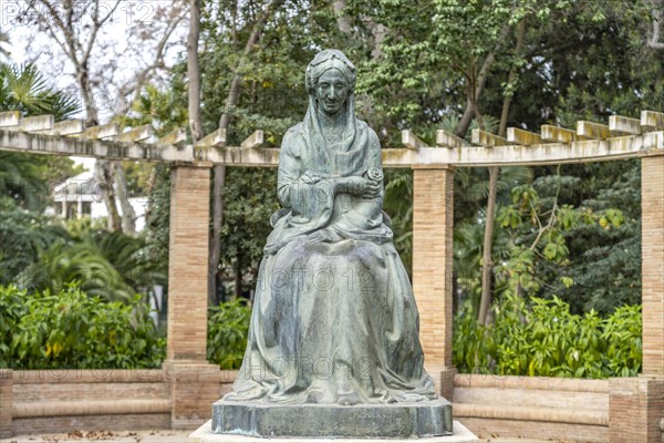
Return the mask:
MULTIPOLYGON (((414 171, 413 289, 421 312, 421 340, 427 370, 436 373, 442 392, 449 395, 455 373, 454 168, 641 158, 643 373, 616 384, 622 394, 611 403, 609 440, 652 442, 658 435, 657 418, 664 415, 664 113, 643 111, 640 119, 611 116, 608 123, 578 122, 575 130, 543 125, 540 133, 509 128, 507 138, 476 130, 471 143, 439 131, 436 146, 403 131, 405 147, 383 150, 383 165, 414 171), (625 434, 627 427, 636 431, 625 434)), ((209 413, 209 404, 218 396, 205 388, 206 380, 218 372, 206 360, 210 169, 217 164, 276 167, 279 163, 278 148, 261 147, 262 131, 240 146, 227 146, 221 131, 195 145, 185 145, 185 140, 184 130, 156 138, 151 126, 84 128, 82 121, 55 123, 48 115, 23 119, 18 112, 0 113, 0 151, 174 165, 164 369, 173 381, 175 426, 209 413)))

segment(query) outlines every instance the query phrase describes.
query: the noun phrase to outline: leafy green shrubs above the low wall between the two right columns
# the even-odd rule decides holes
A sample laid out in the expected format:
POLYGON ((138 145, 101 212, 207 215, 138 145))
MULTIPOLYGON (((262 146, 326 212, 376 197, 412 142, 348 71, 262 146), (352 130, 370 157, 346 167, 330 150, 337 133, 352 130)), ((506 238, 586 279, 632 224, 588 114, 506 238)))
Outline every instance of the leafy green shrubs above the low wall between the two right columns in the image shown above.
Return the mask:
POLYGON ((459 372, 603 379, 641 369, 641 307, 624 306, 606 319, 591 310, 570 313, 559 298, 506 296, 496 321, 478 324, 467 310, 455 319, 454 364, 459 372))

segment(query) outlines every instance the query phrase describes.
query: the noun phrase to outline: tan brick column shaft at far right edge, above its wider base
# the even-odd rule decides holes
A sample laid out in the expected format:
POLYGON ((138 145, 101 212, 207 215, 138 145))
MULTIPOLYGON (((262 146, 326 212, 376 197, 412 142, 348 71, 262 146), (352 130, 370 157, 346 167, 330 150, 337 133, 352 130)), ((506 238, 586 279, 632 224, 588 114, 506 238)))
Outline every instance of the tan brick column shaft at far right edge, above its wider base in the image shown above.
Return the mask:
POLYGON ((664 155, 641 159, 641 213, 643 374, 664 378, 664 155))

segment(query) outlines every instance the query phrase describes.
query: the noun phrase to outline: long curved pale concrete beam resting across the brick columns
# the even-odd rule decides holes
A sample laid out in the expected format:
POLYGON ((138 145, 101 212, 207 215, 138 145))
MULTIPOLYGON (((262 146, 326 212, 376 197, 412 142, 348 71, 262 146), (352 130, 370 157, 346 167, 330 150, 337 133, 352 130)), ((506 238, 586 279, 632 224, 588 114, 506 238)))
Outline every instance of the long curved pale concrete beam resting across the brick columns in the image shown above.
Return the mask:
MULTIPOLYGON (((100 133, 98 130, 95 132, 100 133)), ((492 140, 496 140, 494 137, 492 140)), ((219 140, 216 142, 219 143, 219 140)), ((4 151, 180 164, 210 162, 247 167, 277 167, 279 165, 278 148, 210 147, 212 146, 201 147, 197 144, 194 150, 191 145, 178 147, 87 137, 58 137, 0 128, 0 150, 4 151)), ((664 131, 571 143, 529 146, 508 144, 492 147, 467 146, 445 150, 439 147, 397 148, 383 150, 382 154, 385 167, 416 167, 429 164, 469 167, 601 162, 647 155, 651 150, 664 150, 664 131)))

